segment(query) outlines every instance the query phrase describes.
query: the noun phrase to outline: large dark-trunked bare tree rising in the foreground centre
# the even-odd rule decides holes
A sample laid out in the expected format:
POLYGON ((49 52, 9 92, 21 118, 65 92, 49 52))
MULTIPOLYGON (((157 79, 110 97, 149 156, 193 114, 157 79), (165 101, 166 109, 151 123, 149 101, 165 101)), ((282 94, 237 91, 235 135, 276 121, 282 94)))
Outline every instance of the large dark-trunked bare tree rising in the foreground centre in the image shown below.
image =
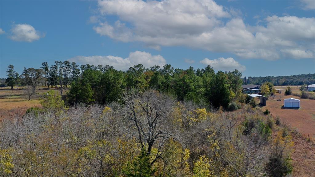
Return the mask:
POLYGON ((158 152, 151 162, 153 164, 162 157, 163 144, 174 135, 168 119, 172 100, 153 90, 144 93, 133 90, 125 94, 120 102, 124 105, 116 105, 121 107, 118 115, 130 123, 129 131, 138 140, 138 145, 147 149, 147 155, 151 154, 153 146, 157 147, 158 152))

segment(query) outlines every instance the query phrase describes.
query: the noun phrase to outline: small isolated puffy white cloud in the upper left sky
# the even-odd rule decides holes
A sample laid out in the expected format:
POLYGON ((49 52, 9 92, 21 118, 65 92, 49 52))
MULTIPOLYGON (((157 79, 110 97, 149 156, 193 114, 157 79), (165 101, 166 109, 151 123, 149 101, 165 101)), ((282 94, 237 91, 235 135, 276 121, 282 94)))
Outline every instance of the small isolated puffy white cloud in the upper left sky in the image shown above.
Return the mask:
POLYGON ((16 24, 11 29, 10 38, 14 41, 32 42, 44 37, 39 31, 29 24, 16 24))

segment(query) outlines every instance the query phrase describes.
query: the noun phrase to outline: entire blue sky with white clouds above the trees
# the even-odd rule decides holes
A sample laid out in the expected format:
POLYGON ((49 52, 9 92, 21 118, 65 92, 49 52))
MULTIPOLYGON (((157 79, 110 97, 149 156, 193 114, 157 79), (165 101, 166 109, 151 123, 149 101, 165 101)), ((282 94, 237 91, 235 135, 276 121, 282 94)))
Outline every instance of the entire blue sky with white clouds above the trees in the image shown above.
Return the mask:
POLYGON ((55 60, 314 73, 314 2, 0 1, 0 77, 55 60))

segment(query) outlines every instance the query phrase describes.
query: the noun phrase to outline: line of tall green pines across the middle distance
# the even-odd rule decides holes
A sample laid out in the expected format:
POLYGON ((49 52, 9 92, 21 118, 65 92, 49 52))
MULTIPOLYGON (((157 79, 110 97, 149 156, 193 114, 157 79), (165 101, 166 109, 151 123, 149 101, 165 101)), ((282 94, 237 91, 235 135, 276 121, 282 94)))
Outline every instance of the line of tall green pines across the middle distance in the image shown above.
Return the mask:
POLYGON ((142 64, 132 66, 128 71, 118 71, 112 66, 79 66, 69 61, 55 61, 49 68, 43 62, 39 69, 24 68, 19 76, 14 66, 7 69, 6 83, 24 85, 29 88, 29 96, 35 92, 37 85, 47 85, 68 92, 69 104, 98 102, 107 104, 116 101, 125 89, 157 91, 174 95, 177 100, 192 100, 198 104, 209 104, 215 108, 227 108, 229 102, 241 95, 242 73, 218 71, 211 66, 195 70, 174 69, 171 65, 144 67, 142 64))

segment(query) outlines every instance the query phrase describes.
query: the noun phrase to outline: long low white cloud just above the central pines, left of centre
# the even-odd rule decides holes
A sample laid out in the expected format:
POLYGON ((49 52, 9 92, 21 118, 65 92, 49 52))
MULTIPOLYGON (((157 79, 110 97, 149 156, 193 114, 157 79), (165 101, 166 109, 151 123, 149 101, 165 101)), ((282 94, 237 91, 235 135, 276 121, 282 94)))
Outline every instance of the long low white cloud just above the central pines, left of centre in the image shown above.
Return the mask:
POLYGON ((166 60, 161 55, 152 55, 147 52, 135 51, 130 52, 129 56, 125 59, 118 56, 76 56, 70 59, 80 64, 93 64, 113 66, 117 70, 127 70, 129 67, 142 64, 145 67, 154 65, 163 66, 166 60))

